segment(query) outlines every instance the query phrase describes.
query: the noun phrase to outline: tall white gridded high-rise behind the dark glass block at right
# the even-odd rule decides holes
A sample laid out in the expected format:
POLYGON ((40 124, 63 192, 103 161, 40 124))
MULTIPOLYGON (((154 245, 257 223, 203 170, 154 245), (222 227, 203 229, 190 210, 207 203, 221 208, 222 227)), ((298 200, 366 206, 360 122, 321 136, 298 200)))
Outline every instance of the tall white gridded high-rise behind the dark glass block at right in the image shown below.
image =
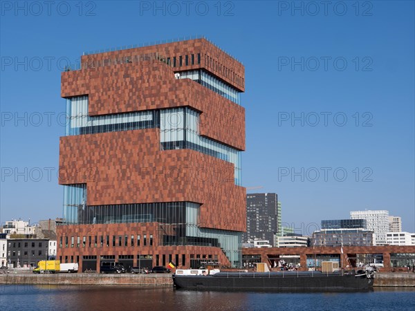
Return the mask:
POLYGON ((366 219, 367 229, 375 233, 375 244, 387 244, 386 234, 389 232, 389 211, 351 211, 350 218, 366 219))

